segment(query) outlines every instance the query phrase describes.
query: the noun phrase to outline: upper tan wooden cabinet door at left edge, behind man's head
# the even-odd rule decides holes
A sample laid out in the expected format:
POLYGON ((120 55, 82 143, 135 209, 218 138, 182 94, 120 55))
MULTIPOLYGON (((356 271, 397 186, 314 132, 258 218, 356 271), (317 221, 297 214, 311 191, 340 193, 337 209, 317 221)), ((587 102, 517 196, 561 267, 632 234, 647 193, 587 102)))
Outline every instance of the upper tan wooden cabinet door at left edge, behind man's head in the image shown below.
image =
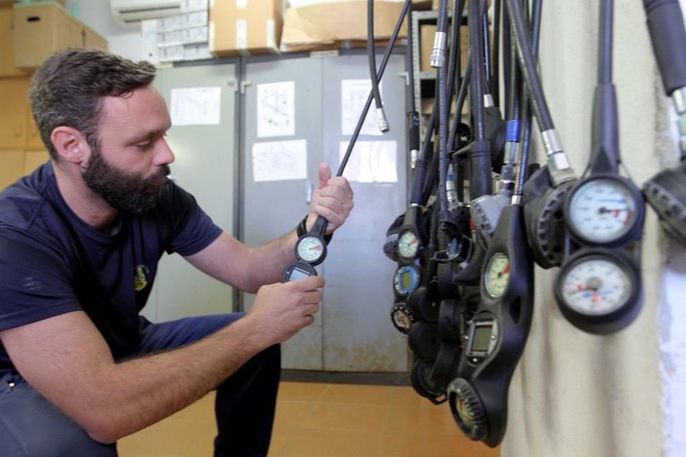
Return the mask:
POLYGON ((26 144, 26 92, 29 78, 0 78, 0 148, 21 149, 26 144))

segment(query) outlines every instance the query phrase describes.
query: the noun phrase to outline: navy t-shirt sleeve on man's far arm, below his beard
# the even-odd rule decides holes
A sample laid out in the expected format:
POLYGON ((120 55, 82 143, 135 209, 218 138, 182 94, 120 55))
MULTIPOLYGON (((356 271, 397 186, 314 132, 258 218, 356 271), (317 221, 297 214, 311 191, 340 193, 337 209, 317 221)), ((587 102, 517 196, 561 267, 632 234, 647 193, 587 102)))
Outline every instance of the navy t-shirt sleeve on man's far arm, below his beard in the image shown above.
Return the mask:
POLYGON ((167 253, 191 256, 216 240, 222 229, 198 206, 193 195, 169 181, 169 205, 173 230, 167 253))

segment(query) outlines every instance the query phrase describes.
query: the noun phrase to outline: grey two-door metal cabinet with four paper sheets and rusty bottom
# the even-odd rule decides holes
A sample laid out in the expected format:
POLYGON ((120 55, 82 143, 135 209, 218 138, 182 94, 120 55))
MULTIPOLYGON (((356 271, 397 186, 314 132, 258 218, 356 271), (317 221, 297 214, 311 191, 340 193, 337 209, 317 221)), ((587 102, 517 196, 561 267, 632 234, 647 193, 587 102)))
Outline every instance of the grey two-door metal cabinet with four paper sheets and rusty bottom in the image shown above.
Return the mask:
MULTIPOLYGON (((380 60, 381 56, 377 61, 380 60)), ((407 344, 394 330, 389 317, 394 263, 381 250, 388 223, 404 210, 406 201, 405 77, 401 76, 404 69, 404 56, 392 55, 381 82, 391 132, 359 138, 359 142, 374 142, 368 145, 391 142, 395 179, 355 181, 358 177, 349 176, 348 169, 369 166, 368 161, 374 160, 370 158, 375 154, 371 148, 364 154, 367 162, 355 165, 363 156, 360 151, 365 149, 363 143, 355 147, 344 173, 355 192, 355 209, 335 233, 327 260, 317 267, 327 281, 321 310, 313 325, 284 343, 284 368, 407 371, 407 344)), ((246 244, 258 245, 281 236, 307 214, 307 197, 318 182, 318 164, 322 160, 329 162, 335 173, 340 151, 350 139, 342 129, 346 105, 342 88, 351 80, 368 78, 367 58, 361 54, 246 61, 241 116, 241 238, 246 244), (265 103, 258 97, 260 86, 277 82, 294 83, 294 129, 292 134, 282 136, 258 136, 258 105, 265 103), (307 175, 256 181, 256 143, 278 144, 287 140, 306 141, 307 175)), ((359 112, 354 121, 357 116, 359 112)), ((245 309, 250 308, 253 299, 253 295, 242 295, 245 309)))

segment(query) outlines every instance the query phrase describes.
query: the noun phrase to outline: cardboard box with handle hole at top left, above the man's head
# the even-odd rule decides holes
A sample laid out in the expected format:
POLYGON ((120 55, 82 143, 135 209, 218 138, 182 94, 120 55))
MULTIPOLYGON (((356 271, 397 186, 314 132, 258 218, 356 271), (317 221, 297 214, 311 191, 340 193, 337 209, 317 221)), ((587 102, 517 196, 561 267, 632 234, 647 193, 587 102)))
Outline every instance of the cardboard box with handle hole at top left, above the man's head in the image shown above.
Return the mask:
POLYGON ((49 55, 70 47, 107 48, 107 40, 57 3, 14 5, 14 66, 31 73, 49 55))

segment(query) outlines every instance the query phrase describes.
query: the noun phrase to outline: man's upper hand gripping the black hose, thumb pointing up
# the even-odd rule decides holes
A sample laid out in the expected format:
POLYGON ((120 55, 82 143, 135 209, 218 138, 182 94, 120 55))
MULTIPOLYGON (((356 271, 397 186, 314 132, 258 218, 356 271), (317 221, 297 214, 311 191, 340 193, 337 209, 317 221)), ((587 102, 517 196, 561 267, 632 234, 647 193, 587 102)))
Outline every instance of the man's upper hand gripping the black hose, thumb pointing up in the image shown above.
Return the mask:
POLYGON ((329 164, 319 164, 319 183, 312 194, 305 227, 311 230, 317 216, 327 219, 327 234, 340 227, 353 209, 353 189, 344 177, 331 177, 329 164))

